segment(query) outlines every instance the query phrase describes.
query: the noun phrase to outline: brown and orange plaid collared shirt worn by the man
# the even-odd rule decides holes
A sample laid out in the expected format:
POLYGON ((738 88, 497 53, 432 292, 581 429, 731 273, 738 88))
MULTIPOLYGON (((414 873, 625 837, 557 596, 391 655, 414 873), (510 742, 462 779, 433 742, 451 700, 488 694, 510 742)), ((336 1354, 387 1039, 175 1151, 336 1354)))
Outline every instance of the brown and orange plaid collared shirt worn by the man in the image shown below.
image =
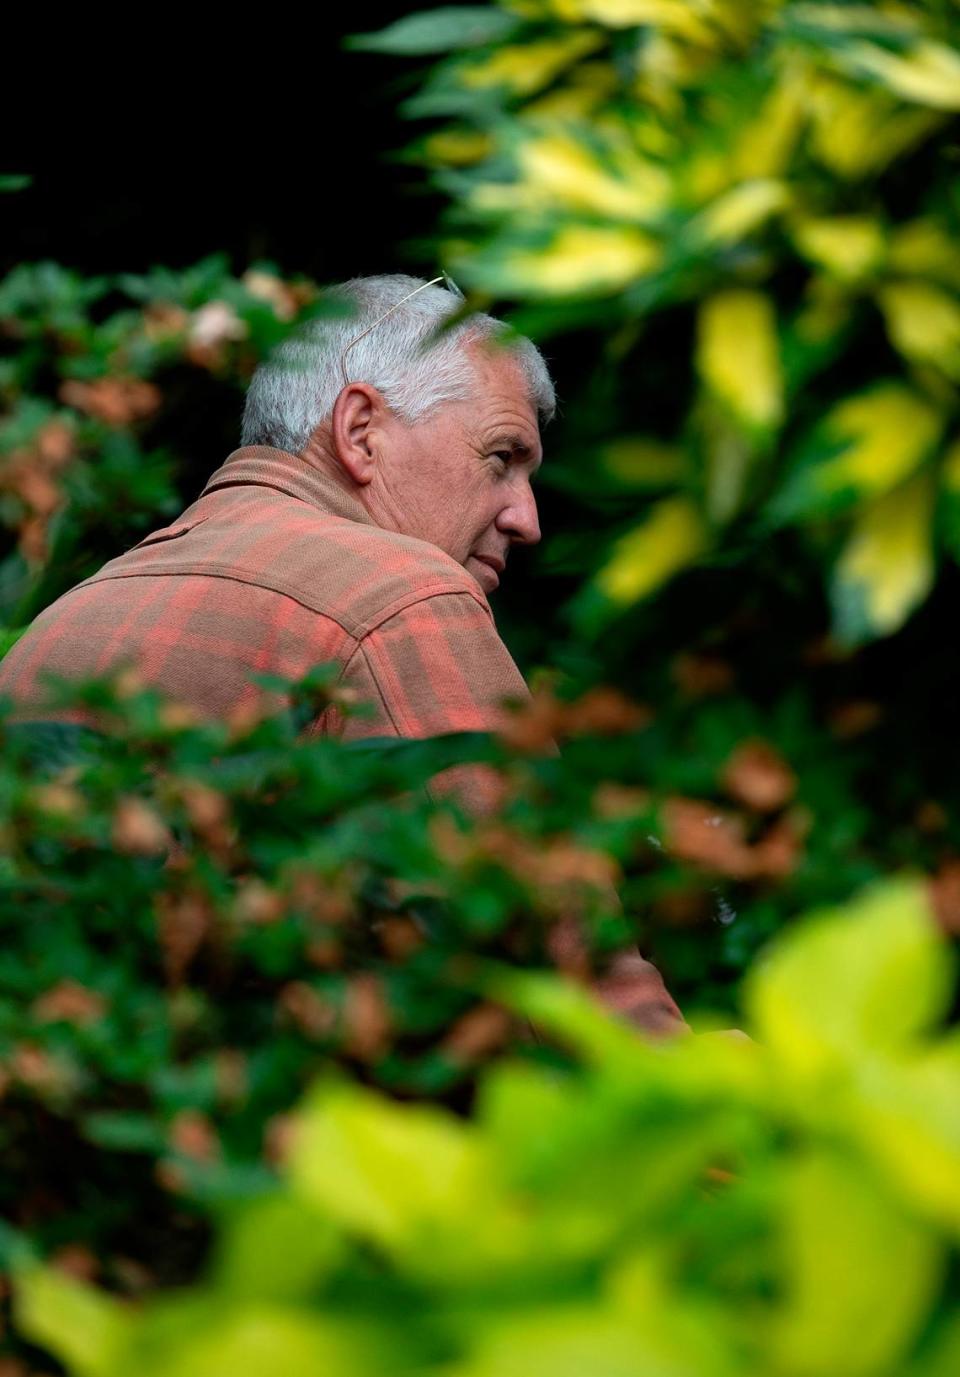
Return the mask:
POLYGON ((238 449, 171 526, 43 611, 0 662, 18 715, 44 675, 121 665, 204 717, 262 704, 252 671, 296 679, 335 661, 372 717, 328 709, 343 737, 489 731, 526 686, 471 574, 382 530, 333 478, 264 446, 238 449))

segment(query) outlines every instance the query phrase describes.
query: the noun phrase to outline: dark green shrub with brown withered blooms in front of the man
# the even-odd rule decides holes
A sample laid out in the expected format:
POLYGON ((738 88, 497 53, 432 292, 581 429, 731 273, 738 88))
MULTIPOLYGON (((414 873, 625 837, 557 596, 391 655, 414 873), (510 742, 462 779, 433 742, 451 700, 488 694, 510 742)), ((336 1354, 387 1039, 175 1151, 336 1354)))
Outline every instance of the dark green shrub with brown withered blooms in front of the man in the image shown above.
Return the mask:
POLYGON ((614 898, 624 870, 678 872, 647 840, 657 800, 605 789, 642 738, 616 697, 554 705, 562 761, 530 753, 543 704, 514 722, 521 752, 306 741, 332 677, 286 697, 260 722, 196 724, 121 676, 65 694, 105 735, 7 724, 7 1252, 21 1235, 80 1250, 121 1289, 190 1275, 197 1205, 270 1179, 282 1115, 321 1069, 468 1107, 477 1067, 516 1031, 477 963, 548 965, 550 934, 576 921, 580 974, 591 950, 602 969, 643 929, 614 898), (503 772, 500 815, 427 793, 464 760, 503 772))

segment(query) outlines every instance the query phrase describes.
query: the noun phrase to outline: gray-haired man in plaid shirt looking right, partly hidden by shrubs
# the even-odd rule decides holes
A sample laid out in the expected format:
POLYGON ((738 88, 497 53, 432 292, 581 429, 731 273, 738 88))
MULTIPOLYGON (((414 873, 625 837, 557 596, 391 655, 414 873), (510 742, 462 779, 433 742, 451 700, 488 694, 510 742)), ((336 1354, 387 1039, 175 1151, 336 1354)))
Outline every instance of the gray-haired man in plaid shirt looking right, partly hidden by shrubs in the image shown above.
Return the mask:
MULTIPOLYGON (((48 607, 0 664, 0 693, 43 713, 43 676, 132 664, 204 716, 255 706, 249 675, 340 665, 373 716, 326 709, 311 731, 483 731, 526 694, 488 593, 540 538, 530 487, 554 412, 529 340, 416 278, 355 278, 348 308, 258 369, 242 448, 172 525, 48 607)), ((474 771, 467 806, 482 808, 474 771)), ((650 1026, 679 1015, 646 963, 606 994, 650 1026)), ((636 964, 639 963, 639 964, 636 964)))

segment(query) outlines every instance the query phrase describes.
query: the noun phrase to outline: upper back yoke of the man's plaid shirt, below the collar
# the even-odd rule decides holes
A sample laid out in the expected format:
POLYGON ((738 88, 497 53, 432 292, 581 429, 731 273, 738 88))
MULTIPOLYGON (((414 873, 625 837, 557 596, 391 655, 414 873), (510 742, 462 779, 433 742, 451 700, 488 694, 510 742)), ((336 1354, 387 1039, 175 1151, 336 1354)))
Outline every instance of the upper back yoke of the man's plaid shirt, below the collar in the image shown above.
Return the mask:
POLYGON ((470 598, 490 614, 477 580, 427 541, 329 515, 284 493, 259 489, 255 501, 248 494, 251 489, 236 487, 201 497, 94 580, 234 580, 293 598, 355 638, 427 598, 470 598))

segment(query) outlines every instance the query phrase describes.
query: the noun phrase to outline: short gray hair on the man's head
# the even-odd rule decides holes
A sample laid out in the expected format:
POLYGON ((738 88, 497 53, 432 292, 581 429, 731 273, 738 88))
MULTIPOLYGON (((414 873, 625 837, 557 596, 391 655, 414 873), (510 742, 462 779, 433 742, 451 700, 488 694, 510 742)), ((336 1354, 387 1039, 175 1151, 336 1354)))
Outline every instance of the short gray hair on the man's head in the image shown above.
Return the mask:
POLYGON ((503 321, 470 315, 424 348, 463 304, 452 292, 424 282, 393 273, 354 277, 328 288, 324 295, 343 303, 350 314, 307 321, 258 368, 244 405, 241 443, 302 453, 344 387, 340 362, 344 351, 347 380, 371 383, 383 392, 390 409, 412 424, 445 402, 475 394, 477 373, 467 347, 483 340, 507 348, 526 381, 532 405, 541 420, 550 420, 556 398, 543 355, 530 340, 511 336, 503 321), (419 286, 423 291, 416 291, 419 286), (410 292, 416 296, 398 306, 410 292), (390 314, 380 321, 386 311, 390 314))

